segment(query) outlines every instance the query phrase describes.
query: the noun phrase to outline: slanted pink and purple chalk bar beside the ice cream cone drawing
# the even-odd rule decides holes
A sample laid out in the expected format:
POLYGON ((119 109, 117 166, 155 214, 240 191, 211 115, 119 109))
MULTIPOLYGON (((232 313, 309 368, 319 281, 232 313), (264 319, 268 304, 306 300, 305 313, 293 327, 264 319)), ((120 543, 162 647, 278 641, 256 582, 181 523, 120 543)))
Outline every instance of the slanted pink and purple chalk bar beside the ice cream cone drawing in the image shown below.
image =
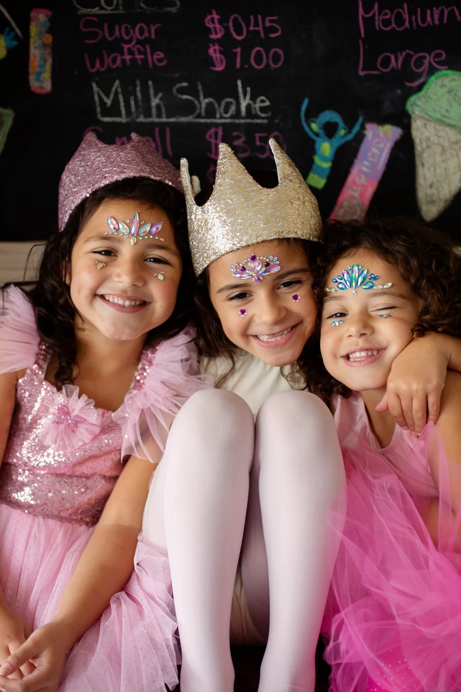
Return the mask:
POLYGON ((402 134, 393 125, 374 125, 367 122, 365 137, 350 169, 346 183, 332 210, 330 219, 365 218, 371 198, 382 178, 392 147, 402 134))

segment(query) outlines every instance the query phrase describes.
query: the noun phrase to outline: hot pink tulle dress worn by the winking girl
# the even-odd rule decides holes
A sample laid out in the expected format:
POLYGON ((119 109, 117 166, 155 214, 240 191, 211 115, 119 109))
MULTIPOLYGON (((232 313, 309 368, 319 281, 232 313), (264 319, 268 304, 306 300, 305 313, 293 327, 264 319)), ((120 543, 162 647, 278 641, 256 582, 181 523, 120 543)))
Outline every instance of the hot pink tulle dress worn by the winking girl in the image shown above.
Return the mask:
POLYGON ((335 403, 348 507, 322 628, 330 691, 460 690, 460 511, 438 430, 396 426, 381 449, 359 394, 335 403), (433 500, 438 548, 424 522, 433 500))

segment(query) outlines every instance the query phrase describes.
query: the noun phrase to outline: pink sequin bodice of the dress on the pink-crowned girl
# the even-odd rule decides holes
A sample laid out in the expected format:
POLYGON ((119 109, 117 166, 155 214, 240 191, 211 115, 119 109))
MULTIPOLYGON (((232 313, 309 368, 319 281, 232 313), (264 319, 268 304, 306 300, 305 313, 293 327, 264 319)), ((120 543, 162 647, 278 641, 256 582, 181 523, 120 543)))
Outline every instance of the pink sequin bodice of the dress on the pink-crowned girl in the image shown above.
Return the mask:
MULTIPOLYGON (((155 352, 144 349, 130 392, 142 388, 155 352)), ((59 451, 46 444, 44 430, 56 415, 57 397, 56 388, 44 379, 47 362, 48 352, 41 344, 35 364, 17 383, 0 467, 0 502, 38 516, 93 525, 122 471, 122 428, 111 411, 97 409, 98 424, 89 441, 59 451)), ((123 408, 124 404, 117 414, 123 408)))

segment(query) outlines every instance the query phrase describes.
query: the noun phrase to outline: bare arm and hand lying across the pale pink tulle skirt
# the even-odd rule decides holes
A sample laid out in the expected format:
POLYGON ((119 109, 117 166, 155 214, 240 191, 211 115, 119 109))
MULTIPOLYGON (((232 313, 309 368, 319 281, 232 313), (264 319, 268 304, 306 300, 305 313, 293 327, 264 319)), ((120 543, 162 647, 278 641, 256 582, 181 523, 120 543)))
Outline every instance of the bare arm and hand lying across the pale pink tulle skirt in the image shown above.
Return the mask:
MULTIPOLYGON (((160 460, 158 448, 156 456, 160 460)), ((129 458, 59 601, 54 619, 35 630, 0 668, 1 675, 8 675, 34 659, 35 671, 21 681, 1 677, 2 690, 57 690, 66 653, 100 617, 133 572, 149 480, 156 465, 146 459, 129 458)))

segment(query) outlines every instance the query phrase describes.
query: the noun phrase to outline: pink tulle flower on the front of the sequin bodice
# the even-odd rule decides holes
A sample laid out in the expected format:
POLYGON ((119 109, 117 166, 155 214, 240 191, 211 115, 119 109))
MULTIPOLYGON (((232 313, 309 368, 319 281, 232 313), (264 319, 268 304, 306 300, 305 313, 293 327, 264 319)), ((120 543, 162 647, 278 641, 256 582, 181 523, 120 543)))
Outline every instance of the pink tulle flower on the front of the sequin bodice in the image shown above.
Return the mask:
POLYGON ((56 395, 50 422, 43 432, 44 444, 59 452, 73 452, 87 444, 101 428, 102 412, 79 388, 64 385, 56 395))

